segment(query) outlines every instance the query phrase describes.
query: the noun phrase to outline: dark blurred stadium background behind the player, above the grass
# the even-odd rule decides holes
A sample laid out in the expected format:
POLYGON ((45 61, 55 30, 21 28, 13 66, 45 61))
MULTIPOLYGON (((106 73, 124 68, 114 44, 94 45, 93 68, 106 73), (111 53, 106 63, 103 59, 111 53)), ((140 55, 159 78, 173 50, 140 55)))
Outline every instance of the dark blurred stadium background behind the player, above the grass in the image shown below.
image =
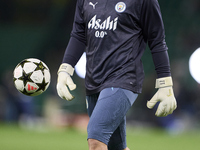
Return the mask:
MULTIPOLYGON (((156 73, 150 50, 142 58, 143 93, 127 114, 131 127, 156 127, 170 134, 200 128, 200 85, 189 72, 189 58, 200 47, 200 1, 160 0, 174 81, 177 110, 157 118, 146 102, 156 92, 156 73)), ((0 0, 0 123, 23 128, 73 127, 86 130, 84 79, 74 75, 75 99, 67 102, 56 93, 61 64, 73 23, 75 0, 0 0), (15 66, 26 58, 38 58, 51 71, 45 93, 28 97, 13 84, 15 66)), ((200 65, 200 64, 199 64, 200 65)), ((200 68, 199 68, 200 69, 200 68)), ((199 70, 200 71, 200 70, 199 70)))

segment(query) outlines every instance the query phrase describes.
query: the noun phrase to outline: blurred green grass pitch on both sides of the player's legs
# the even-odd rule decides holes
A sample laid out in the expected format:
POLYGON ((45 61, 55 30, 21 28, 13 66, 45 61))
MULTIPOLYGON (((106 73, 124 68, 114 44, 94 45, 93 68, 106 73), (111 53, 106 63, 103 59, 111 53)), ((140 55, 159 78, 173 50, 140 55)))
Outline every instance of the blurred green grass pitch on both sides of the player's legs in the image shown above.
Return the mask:
MULTIPOLYGON (((0 125, 1 150, 88 150, 87 133, 75 129, 24 130, 0 125)), ((131 150, 199 150, 200 130, 169 135, 159 129, 127 129, 131 150)))

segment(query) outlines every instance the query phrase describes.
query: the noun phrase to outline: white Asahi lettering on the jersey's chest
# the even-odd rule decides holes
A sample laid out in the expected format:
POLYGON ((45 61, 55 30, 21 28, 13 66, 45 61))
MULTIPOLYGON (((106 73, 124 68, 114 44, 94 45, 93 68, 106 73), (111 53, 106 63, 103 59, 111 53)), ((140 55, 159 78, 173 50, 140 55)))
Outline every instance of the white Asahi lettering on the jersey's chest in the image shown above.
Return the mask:
POLYGON ((95 30, 116 30, 117 28, 118 17, 114 20, 111 20, 111 16, 102 21, 101 19, 97 19, 97 15, 95 15, 88 23, 88 29, 95 30))

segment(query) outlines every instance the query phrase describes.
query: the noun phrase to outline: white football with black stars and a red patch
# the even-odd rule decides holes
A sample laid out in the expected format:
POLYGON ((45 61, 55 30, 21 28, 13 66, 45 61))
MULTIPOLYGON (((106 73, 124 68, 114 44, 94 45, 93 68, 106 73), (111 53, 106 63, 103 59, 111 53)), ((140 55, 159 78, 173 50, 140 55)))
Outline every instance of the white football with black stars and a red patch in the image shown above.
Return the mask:
POLYGON ((44 62, 36 58, 29 58, 21 61, 15 67, 13 80, 19 92, 28 96, 37 96, 49 87, 51 75, 44 62))

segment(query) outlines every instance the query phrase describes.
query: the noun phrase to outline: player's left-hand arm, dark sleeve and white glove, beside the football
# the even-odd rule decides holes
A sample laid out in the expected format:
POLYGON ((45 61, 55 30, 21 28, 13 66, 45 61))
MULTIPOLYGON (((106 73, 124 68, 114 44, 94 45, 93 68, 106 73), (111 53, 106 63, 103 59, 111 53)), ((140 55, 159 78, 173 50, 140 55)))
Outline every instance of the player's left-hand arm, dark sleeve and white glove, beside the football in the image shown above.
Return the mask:
POLYGON ((83 0, 78 0, 76 4, 76 12, 74 17, 71 38, 65 50, 62 64, 58 69, 57 93, 62 99, 72 100, 72 96, 68 90, 76 89, 71 76, 74 73, 74 66, 80 59, 86 47, 85 24, 82 16, 83 0))

